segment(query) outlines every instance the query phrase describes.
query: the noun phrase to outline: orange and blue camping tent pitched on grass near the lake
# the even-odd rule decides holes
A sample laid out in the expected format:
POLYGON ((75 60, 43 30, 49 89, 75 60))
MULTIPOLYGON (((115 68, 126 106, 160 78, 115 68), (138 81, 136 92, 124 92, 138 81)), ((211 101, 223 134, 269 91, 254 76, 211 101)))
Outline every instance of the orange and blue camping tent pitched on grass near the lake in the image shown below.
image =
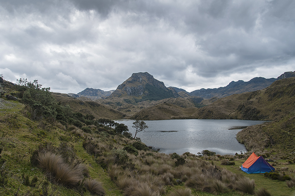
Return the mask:
POLYGON ((241 169, 248 174, 265 173, 275 170, 262 156, 258 157, 254 152, 242 164, 241 169))

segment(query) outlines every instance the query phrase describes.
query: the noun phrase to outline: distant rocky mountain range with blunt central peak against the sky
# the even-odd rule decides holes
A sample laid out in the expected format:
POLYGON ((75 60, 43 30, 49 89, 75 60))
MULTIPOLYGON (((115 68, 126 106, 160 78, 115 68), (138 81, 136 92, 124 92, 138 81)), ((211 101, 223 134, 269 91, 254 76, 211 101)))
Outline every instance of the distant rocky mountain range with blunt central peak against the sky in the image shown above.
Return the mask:
MULTIPOLYGON (((265 89, 270 86, 274 81, 283 78, 290 78, 295 76, 295 71, 285 72, 278 78, 266 79, 263 77, 255 77, 248 82, 239 80, 232 81, 224 87, 214 89, 199 89, 192 92, 187 92, 184 89, 177 87, 166 87, 161 81, 155 79, 148 72, 134 73, 130 78, 120 84, 116 90, 103 91, 101 89, 86 88, 78 94, 69 93, 72 97, 88 97, 92 100, 97 99, 112 99, 114 97, 124 98, 127 103, 141 102, 141 101, 158 101, 167 98, 189 98, 201 97, 203 99, 210 99, 212 97, 222 98, 232 94, 240 94, 243 92, 252 92, 265 89)), ((193 98, 195 99, 195 98, 193 98)), ((214 99, 216 100, 216 99, 214 99)), ((202 99, 198 98, 198 101, 202 99)))

